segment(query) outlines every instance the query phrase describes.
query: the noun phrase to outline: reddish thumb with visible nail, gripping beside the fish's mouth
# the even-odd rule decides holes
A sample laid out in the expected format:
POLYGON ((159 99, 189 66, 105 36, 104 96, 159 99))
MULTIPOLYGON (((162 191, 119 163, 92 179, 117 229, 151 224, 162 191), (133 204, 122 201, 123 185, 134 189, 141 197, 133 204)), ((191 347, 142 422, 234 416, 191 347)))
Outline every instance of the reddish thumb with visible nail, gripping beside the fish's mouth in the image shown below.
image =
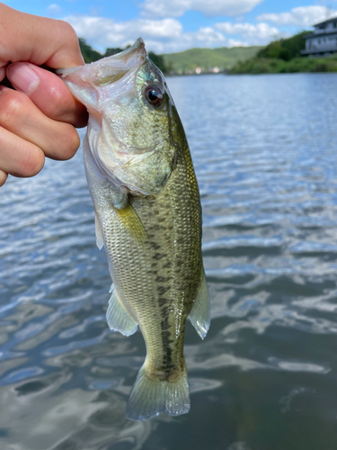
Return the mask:
POLYGON ((27 62, 17 62, 7 67, 7 78, 17 90, 30 97, 41 112, 55 121, 84 127, 87 112, 57 75, 27 62))

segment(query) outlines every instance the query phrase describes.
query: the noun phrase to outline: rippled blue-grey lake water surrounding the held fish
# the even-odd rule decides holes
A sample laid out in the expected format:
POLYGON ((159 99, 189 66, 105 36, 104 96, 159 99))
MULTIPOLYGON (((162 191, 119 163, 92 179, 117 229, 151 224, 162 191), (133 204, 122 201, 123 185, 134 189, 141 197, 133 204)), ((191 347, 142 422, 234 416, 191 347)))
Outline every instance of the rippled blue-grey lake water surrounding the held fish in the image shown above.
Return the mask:
POLYGON ((1 450, 337 448, 337 74, 168 84, 212 307, 186 331, 191 412, 125 418, 145 346, 107 327, 79 151, 0 189, 1 450))

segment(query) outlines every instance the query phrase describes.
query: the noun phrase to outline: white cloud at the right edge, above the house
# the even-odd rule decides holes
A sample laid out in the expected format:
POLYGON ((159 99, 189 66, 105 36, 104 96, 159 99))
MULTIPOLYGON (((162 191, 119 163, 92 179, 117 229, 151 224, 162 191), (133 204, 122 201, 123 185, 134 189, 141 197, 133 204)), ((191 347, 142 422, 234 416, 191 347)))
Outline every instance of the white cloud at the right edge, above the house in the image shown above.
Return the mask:
POLYGON ((337 11, 325 6, 298 6, 289 13, 279 14, 261 14, 257 17, 258 21, 267 21, 277 23, 278 25, 297 25, 310 27, 315 23, 323 22, 330 17, 337 15, 337 11))

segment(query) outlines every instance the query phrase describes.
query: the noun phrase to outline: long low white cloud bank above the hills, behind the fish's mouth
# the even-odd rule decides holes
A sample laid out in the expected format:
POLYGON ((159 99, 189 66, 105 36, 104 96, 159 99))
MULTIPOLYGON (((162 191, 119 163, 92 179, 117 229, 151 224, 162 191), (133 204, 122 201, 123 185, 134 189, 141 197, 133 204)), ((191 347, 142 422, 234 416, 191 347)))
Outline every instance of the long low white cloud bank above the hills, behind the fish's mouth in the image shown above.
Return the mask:
POLYGON ((88 15, 68 16, 81 38, 93 48, 104 51, 108 47, 124 48, 138 37, 146 42, 146 49, 156 53, 171 53, 193 47, 237 47, 263 44, 279 34, 277 28, 266 23, 217 23, 213 27, 201 27, 198 31, 184 32, 176 19, 150 20, 145 18, 116 22, 105 17, 88 15), (233 39, 233 35, 238 39, 233 39))

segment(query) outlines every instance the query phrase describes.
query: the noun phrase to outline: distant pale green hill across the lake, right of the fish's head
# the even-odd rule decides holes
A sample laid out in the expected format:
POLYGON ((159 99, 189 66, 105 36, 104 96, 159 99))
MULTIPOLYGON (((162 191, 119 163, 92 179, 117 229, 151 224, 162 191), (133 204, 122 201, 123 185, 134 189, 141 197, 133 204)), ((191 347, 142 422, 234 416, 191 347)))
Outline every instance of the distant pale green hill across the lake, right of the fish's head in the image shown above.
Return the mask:
POLYGON ((164 64, 177 74, 195 72, 200 67, 208 72, 212 67, 220 70, 233 67, 238 61, 253 58, 262 47, 220 47, 218 49, 188 49, 180 53, 162 55, 164 64))

